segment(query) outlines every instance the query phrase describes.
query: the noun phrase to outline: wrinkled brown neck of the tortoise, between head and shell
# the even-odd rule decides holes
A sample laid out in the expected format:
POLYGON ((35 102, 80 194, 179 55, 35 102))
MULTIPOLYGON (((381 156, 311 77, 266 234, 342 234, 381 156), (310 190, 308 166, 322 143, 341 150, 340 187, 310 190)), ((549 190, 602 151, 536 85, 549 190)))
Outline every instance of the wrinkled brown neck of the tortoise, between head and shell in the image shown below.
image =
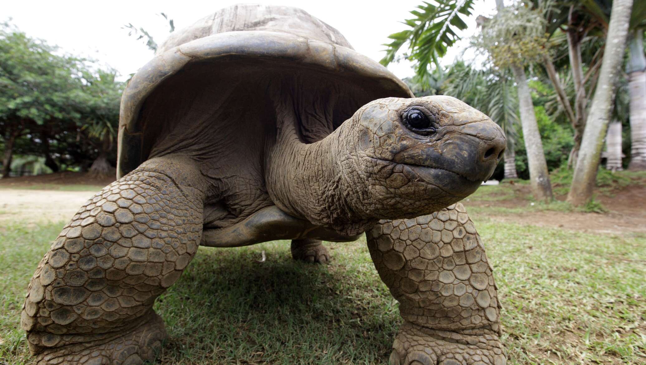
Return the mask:
POLYGON ((279 124, 267 159, 267 190, 276 206, 295 217, 357 235, 378 219, 357 204, 365 192, 361 170, 349 141, 356 114, 324 139, 306 144, 298 138, 293 117, 279 124))

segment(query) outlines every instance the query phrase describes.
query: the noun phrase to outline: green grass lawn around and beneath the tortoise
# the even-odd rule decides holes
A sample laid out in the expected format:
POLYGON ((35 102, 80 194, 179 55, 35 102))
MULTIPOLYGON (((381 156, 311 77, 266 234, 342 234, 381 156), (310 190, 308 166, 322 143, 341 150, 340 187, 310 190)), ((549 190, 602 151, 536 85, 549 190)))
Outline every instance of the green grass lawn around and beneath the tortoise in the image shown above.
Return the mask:
MULTIPOLYGON (((571 233, 475 214, 494 264, 510 364, 646 363, 646 237, 571 233)), ((28 361, 26 285, 63 226, 0 228, 0 364, 28 361)), ((172 364, 382 364, 401 323, 365 242, 330 266, 289 243, 201 248, 156 302, 172 364), (258 262, 261 252, 266 261, 258 262)))

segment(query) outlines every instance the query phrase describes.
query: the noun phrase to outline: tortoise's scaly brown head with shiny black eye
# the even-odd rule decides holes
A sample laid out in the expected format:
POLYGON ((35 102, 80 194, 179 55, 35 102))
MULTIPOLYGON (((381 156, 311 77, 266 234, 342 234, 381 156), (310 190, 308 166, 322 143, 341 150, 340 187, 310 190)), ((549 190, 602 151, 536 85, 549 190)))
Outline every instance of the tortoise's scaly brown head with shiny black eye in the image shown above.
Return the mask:
POLYGON ((377 218, 417 216, 460 201, 491 177, 505 150, 497 124, 448 96, 379 99, 360 108, 348 127, 342 170, 351 172, 353 186, 365 186, 352 205, 377 218))

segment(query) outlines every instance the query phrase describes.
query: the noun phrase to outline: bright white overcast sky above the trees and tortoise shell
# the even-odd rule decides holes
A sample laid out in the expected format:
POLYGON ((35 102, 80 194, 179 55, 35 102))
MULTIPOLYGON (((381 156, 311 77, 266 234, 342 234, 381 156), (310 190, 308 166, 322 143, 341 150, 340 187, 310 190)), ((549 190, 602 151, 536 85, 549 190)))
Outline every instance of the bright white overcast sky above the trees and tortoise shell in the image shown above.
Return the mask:
MULTIPOLYGON (((123 25, 132 23, 143 27, 155 41, 161 44, 168 35, 167 21, 159 14, 164 12, 174 19, 176 29, 193 24, 205 15, 220 8, 244 1, 3 1, 0 6, 0 21, 13 18, 12 22, 31 37, 45 39, 57 44, 64 52, 91 57, 100 63, 116 68, 127 79, 152 58, 143 40, 129 37, 123 25)), ((404 30, 399 23, 412 17, 409 14, 421 0, 375 0, 375 1, 307 1, 307 0, 256 0, 253 3, 297 6, 337 28, 350 44, 375 61, 384 56, 383 43, 388 35, 404 30)), ((449 50, 444 64, 452 63, 468 45, 468 37, 474 34, 475 17, 495 13, 495 0, 477 1, 474 15, 466 19, 469 28, 462 34, 463 40, 449 50)), ((464 19, 464 16, 463 16, 464 19)), ((474 57, 468 50, 464 59, 474 57)), ((411 64, 402 61, 388 68, 400 78, 413 75, 411 64)))

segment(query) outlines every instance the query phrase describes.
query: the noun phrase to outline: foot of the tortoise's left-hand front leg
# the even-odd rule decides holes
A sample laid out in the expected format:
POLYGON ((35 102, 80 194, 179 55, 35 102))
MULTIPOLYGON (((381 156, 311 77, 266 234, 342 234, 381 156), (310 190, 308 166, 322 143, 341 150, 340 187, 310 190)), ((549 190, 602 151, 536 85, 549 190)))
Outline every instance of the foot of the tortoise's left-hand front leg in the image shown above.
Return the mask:
POLYGON ((161 353, 166 330, 161 317, 152 310, 142 320, 132 330, 108 339, 48 349, 37 356, 37 364, 135 365, 154 361, 161 353))

